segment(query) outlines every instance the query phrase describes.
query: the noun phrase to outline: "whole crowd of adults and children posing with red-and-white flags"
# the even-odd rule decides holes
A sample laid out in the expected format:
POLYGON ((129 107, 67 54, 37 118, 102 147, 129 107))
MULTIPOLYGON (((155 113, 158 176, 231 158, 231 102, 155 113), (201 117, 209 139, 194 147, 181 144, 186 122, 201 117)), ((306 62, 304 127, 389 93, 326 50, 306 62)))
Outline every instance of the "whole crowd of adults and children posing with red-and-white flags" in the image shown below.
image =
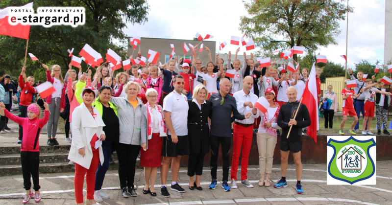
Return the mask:
MULTIPOLYGON (((79 68, 77 74, 70 64, 64 80, 60 66, 54 65, 49 68, 43 64, 42 66, 47 69, 47 80, 53 84, 55 92, 47 96, 45 102, 41 100, 41 104, 33 103, 36 92, 33 87, 34 77, 26 78, 25 67, 22 68, 19 77, 22 89, 19 116, 9 112, 9 101, 4 100, 0 102, 0 121, 6 124, 5 118, 9 118, 21 126, 21 162, 26 190, 23 203, 28 203, 32 197, 36 202, 41 200, 38 137, 42 127, 47 124, 47 143, 50 146, 57 145, 55 136, 61 114, 65 115, 66 119, 66 141, 71 142, 68 159, 74 162, 75 166, 74 187, 77 204, 83 204, 85 201, 88 205, 94 205, 109 198, 102 190, 102 184, 114 151, 118 156, 120 188, 124 198, 138 195, 134 180, 139 154, 145 176, 143 194, 157 195, 154 184, 158 167, 161 175, 160 193, 163 197, 170 197, 167 187, 169 168, 172 172, 170 190, 185 192, 186 190, 178 184, 182 156, 189 156, 189 189, 202 190, 200 179, 205 163, 204 156, 210 152, 212 181, 209 189, 215 189, 218 186, 220 147, 223 159, 221 187, 225 191, 236 189, 241 184, 251 188, 253 184, 247 179, 247 166, 254 131, 257 132, 260 165, 258 185, 268 187, 271 185, 273 152, 279 128, 282 132, 282 178, 273 186, 287 187, 288 157, 289 152, 292 152, 296 168, 296 192, 302 194, 301 135, 302 129, 310 126, 311 121, 306 106, 299 105, 299 99, 305 89, 309 70, 302 68, 301 73, 299 70, 292 73, 284 67, 273 68, 274 63, 270 67, 260 68, 260 64, 254 62, 252 54, 251 58, 247 59, 244 53, 245 60, 240 62, 237 59, 239 49, 232 64, 229 52, 227 68, 224 68, 224 60, 217 55, 215 63, 211 62, 210 50, 208 47, 206 50, 210 62, 205 66, 196 55, 193 61, 181 58, 178 63, 175 58, 164 65, 132 65, 129 70, 131 74, 124 71, 114 75, 110 67, 101 65, 93 78, 91 69, 87 73, 82 73, 79 68), (235 77, 227 78, 226 69, 235 69, 235 77), (265 97, 270 103, 265 113, 255 107, 260 97, 265 97), (42 119, 41 107, 45 108, 42 119), (298 114, 294 118, 294 112, 298 109, 298 114), (68 134, 70 129, 72 138, 68 134), (233 156, 229 170, 231 146, 233 156), (241 179, 238 180, 240 156, 241 179), (33 178, 34 192, 30 191, 30 175, 33 178), (87 196, 84 200, 85 176, 87 196), (237 180, 241 182, 237 184, 237 180)), ((136 58, 140 57, 139 51, 136 58)), ((321 71, 319 68, 316 69, 320 98, 321 71)), ((15 88, 10 86, 9 79, 9 76, 5 76, 1 83, 7 94, 15 91, 15 88)), ((362 79, 358 80, 362 82, 362 79)), ((369 84, 364 90, 373 91, 372 86, 374 85, 369 84)), ((334 97, 335 101, 336 95, 331 91, 325 97, 334 97)), ((386 91, 375 92, 391 94, 386 91)), ((343 95, 350 96, 349 93, 351 91, 343 95)), ((343 107, 348 110, 346 114, 351 116, 355 114, 355 111, 349 110, 348 107, 351 98, 344 96, 346 103, 343 102, 343 107)), ((380 101, 384 102, 384 99, 387 98, 380 101)), ((381 106, 381 110, 387 104, 378 106, 381 106)), ((337 109, 336 105, 332 108, 334 109, 337 109)), ((377 112, 378 110, 377 108, 377 112)), ((330 118, 333 118, 333 113, 330 118)), ((371 120, 370 117, 367 119, 371 120)), ((332 124, 330 126, 332 127, 332 124)))

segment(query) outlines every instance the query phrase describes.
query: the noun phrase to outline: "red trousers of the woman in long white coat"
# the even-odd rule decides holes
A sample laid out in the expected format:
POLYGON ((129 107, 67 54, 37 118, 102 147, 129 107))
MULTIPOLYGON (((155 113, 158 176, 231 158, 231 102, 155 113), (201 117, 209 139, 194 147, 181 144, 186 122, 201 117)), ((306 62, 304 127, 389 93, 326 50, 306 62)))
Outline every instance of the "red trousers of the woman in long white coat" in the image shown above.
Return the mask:
POLYGON ((76 204, 83 203, 83 183, 84 176, 87 173, 87 199, 94 199, 95 174, 99 164, 99 151, 93 151, 93 159, 91 160, 90 169, 86 169, 75 163, 75 198, 76 204))

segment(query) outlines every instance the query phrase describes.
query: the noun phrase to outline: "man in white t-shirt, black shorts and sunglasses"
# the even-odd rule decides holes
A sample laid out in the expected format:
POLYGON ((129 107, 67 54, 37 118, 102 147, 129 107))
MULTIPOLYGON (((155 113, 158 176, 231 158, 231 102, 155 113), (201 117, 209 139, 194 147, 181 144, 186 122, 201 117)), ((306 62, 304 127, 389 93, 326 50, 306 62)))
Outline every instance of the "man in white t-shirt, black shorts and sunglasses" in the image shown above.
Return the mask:
POLYGON ((168 136, 163 137, 162 166, 161 166, 161 194, 163 197, 170 197, 166 187, 166 178, 169 173, 169 165, 172 163, 172 186, 171 190, 180 193, 185 192, 178 183, 178 172, 180 170, 181 156, 189 155, 188 141, 188 100, 182 94, 184 90, 184 78, 176 75, 173 78, 174 91, 169 93, 163 100, 163 114, 165 116, 166 127, 169 130, 168 136))

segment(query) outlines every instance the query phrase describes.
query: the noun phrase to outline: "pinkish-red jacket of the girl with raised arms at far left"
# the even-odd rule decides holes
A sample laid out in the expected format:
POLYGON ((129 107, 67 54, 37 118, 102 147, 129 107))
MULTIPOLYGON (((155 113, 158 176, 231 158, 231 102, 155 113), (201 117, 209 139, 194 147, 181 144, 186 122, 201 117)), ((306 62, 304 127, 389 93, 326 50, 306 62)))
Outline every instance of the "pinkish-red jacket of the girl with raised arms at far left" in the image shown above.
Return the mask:
POLYGON ((36 117, 33 120, 28 119, 28 117, 15 116, 8 112, 7 109, 4 110, 4 114, 10 120, 20 124, 23 127, 23 140, 21 145, 21 151, 39 152, 39 137, 42 127, 44 127, 44 125, 49 120, 49 111, 45 111, 44 118, 38 119, 38 117, 36 117))

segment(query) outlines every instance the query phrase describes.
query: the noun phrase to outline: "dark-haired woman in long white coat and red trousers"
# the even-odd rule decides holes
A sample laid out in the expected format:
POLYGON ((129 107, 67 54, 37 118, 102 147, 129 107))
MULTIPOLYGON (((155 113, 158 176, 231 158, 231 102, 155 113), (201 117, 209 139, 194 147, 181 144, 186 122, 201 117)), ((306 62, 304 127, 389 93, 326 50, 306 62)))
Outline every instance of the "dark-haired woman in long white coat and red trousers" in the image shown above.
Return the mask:
POLYGON ((97 90, 86 86, 82 90, 83 103, 72 114, 72 144, 68 159, 75 162, 75 198, 76 204, 83 205, 83 182, 87 173, 86 205, 99 205, 94 200, 95 174, 99 162, 103 164, 102 142, 105 124, 98 110, 91 104, 97 96, 97 90))

